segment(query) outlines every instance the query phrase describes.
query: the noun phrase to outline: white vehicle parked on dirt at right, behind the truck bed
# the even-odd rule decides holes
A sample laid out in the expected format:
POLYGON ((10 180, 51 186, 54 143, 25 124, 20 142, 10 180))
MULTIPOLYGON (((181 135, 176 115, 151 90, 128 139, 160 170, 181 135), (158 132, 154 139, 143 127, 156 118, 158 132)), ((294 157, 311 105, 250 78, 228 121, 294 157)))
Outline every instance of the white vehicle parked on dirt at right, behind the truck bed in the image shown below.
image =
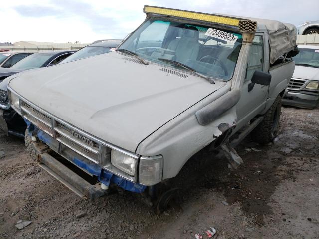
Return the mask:
POLYGON ((313 109, 319 104, 319 46, 298 45, 298 49, 283 105, 313 109))

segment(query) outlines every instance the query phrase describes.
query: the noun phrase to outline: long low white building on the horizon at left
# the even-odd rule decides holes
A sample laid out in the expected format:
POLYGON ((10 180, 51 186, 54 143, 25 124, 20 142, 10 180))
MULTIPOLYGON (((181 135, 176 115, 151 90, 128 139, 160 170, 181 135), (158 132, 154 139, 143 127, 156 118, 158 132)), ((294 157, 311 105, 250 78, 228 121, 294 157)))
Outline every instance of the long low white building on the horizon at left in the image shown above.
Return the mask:
POLYGON ((65 50, 65 49, 80 49, 87 46, 87 43, 55 43, 55 42, 40 42, 40 41, 18 41, 14 42, 11 46, 1 46, 1 49, 9 49, 10 51, 23 51, 23 50, 65 50))

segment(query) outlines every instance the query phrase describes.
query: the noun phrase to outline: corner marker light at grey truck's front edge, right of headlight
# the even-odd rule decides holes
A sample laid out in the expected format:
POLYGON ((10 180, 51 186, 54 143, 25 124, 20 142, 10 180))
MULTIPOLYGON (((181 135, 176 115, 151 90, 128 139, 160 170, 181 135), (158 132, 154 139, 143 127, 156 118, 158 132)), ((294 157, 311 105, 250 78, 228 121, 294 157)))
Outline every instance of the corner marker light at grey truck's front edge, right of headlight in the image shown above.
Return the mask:
POLYGON ((163 176, 163 157, 141 157, 139 168, 140 184, 151 186, 159 183, 163 176))

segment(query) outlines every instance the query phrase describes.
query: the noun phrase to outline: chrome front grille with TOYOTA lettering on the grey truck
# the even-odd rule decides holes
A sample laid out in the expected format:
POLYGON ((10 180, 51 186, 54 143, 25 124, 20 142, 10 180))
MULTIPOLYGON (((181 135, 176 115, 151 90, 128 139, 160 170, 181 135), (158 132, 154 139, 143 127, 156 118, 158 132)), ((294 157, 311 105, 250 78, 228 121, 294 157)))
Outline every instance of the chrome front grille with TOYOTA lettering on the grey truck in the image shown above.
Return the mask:
POLYGON ((72 149, 74 152, 87 158, 91 162, 96 164, 99 163, 99 149, 101 143, 92 136, 89 136, 81 130, 77 130, 75 127, 65 122, 60 122, 57 119, 49 117, 47 114, 23 101, 21 101, 21 110, 23 117, 40 130, 49 134, 61 144, 72 149))

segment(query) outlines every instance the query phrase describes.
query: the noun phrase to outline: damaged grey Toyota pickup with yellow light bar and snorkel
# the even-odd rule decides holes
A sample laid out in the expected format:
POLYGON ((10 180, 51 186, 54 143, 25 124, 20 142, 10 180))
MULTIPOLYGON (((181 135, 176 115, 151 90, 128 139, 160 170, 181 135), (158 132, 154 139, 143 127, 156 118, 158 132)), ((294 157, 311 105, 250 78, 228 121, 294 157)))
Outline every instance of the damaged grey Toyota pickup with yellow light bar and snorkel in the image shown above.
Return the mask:
POLYGON ((144 12, 114 52, 10 79, 28 151, 81 197, 122 188, 152 199, 206 146, 236 168, 243 160, 233 147, 248 133, 259 143, 276 137, 295 66, 295 26, 152 6, 144 12))

